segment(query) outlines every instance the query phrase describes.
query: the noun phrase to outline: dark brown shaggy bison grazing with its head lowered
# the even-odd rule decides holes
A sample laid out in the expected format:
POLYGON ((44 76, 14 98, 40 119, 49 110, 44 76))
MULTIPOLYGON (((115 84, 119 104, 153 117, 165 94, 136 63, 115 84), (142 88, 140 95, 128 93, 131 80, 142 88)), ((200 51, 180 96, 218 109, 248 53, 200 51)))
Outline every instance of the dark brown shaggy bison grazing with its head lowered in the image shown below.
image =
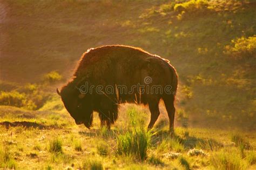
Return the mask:
POLYGON ((178 76, 169 60, 137 47, 107 45, 83 53, 73 78, 57 93, 76 124, 90 129, 93 111, 110 128, 118 118, 118 105, 149 106, 148 129, 156 123, 163 99, 173 133, 174 98, 178 76))

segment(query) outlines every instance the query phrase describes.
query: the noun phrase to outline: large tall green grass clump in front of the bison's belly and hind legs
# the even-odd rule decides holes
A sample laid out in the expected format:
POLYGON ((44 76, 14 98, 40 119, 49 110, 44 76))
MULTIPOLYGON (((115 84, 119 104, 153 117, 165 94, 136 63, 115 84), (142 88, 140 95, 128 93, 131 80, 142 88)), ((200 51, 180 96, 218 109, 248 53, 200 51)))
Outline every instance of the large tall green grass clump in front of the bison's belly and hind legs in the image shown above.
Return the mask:
POLYGON ((145 160, 147 149, 150 146, 151 132, 146 132, 142 128, 134 128, 130 132, 119 135, 117 138, 117 152, 126 156, 133 156, 139 160, 145 160))

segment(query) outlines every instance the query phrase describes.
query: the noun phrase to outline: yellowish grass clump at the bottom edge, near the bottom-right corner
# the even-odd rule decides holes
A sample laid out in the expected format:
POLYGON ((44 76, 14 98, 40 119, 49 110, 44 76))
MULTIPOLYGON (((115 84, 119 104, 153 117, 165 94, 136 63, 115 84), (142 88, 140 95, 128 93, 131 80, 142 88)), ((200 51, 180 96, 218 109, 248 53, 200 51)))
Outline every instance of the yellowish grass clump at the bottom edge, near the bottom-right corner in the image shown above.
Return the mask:
POLYGON ((210 163, 214 169, 240 170, 246 169, 247 164, 242 160, 237 151, 221 151, 215 153, 210 158, 210 163))

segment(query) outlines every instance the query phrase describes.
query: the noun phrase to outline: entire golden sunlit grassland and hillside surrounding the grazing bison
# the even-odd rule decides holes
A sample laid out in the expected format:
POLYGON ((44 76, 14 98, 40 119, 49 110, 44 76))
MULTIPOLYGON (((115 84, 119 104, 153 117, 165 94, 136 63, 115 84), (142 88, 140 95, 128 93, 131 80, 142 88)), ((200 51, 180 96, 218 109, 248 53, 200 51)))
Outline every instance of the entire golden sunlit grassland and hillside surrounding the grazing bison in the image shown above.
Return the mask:
POLYGON ((253 0, 0 0, 0 169, 256 169, 255 8, 253 0), (111 130, 97 112, 90 130, 76 125, 56 88, 87 49, 111 44, 175 67, 173 135, 163 101, 150 131, 149 108, 128 103, 111 130))

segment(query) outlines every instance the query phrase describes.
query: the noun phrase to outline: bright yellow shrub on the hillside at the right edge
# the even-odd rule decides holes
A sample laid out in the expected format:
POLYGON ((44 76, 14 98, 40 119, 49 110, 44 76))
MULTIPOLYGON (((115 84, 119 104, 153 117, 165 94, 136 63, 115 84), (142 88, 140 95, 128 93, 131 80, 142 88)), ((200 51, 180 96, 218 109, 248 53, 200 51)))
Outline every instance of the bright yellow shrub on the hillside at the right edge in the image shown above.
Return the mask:
POLYGON ((233 39, 225 46, 224 53, 235 59, 256 58, 256 36, 233 39))

